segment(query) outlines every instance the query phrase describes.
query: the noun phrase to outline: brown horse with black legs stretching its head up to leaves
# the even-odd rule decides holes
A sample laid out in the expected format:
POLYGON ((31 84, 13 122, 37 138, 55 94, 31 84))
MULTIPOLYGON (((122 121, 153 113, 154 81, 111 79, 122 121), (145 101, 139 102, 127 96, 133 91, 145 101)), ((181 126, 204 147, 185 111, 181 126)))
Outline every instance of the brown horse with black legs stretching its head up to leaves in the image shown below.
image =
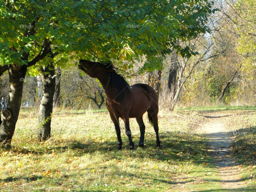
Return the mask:
POLYGON ((144 146, 145 125, 142 117, 146 111, 149 122, 154 126, 157 146, 160 147, 157 117, 158 97, 155 90, 146 84, 129 86, 125 79, 115 72, 112 64, 105 65, 100 62, 87 60, 80 60, 79 64, 79 69, 85 71, 90 77, 99 79, 106 92, 106 106, 110 113, 110 118, 115 125, 118 149, 122 149, 119 118, 123 119, 125 123, 125 131, 129 138, 130 149, 134 149, 134 143, 131 139, 129 118, 136 118, 141 132, 139 147, 144 146))

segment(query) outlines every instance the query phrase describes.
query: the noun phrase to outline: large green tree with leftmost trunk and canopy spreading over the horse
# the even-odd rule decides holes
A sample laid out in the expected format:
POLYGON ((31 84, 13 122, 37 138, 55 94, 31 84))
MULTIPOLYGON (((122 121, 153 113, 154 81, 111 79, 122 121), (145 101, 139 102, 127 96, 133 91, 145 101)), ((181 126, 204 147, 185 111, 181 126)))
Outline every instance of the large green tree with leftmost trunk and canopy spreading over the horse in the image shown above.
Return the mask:
POLYGON ((180 41, 207 31, 207 15, 214 12, 207 0, 169 1, 1 1, 1 73, 9 68, 8 110, 13 114, 1 124, 0 142, 10 145, 21 105, 23 79, 27 68, 43 60, 50 50, 63 59, 131 61, 146 55, 143 70, 159 69, 171 49, 183 57, 196 52, 180 41), (193 25, 193 28, 186 28, 193 25), (10 50, 6 48, 10 48, 10 50), (66 57, 65 57, 66 56, 66 57), (151 61, 151 62, 149 62, 151 61), (5 63, 9 65, 6 68, 5 63))

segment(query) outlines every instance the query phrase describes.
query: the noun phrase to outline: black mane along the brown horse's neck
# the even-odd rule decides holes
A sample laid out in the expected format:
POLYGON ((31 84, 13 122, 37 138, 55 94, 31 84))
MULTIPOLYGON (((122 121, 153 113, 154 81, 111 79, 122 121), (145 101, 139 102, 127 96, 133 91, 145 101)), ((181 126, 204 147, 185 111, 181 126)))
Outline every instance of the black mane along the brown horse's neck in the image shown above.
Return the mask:
POLYGON ((129 86, 125 79, 115 71, 112 63, 107 63, 106 67, 110 71, 110 83, 113 87, 124 89, 129 86))

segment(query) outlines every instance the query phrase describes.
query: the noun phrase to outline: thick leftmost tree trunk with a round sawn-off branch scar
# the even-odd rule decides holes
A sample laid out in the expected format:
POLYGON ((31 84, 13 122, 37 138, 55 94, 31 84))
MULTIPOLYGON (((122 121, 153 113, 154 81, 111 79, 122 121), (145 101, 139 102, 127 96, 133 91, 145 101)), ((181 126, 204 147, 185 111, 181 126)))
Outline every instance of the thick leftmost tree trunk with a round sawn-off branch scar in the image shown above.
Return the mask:
POLYGON ((26 75, 27 66, 18 66, 16 63, 9 68, 9 98, 7 110, 10 111, 11 118, 3 119, 0 128, 1 145, 10 147, 14 134, 15 125, 18 120, 21 107, 23 82, 26 75))

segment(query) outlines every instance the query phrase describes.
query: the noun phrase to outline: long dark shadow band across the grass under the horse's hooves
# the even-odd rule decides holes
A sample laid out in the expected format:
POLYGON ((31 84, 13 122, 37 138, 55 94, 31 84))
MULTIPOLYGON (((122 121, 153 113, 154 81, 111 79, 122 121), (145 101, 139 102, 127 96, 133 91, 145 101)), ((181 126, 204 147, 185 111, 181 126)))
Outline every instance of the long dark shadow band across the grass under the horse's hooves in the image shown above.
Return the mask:
MULTIPOLYGON (((114 155, 115 157, 122 158, 123 153, 127 153, 132 157, 139 158, 150 158, 157 159, 159 161, 187 161, 190 160, 194 163, 201 164, 203 162, 213 162, 213 159, 209 156, 207 148, 207 141, 202 137, 194 134, 183 134, 175 132, 162 132, 160 134, 162 149, 156 146, 155 135, 145 135, 145 146, 144 148, 137 148, 135 150, 129 149, 129 143, 126 138, 123 138, 123 149, 121 151, 117 150, 117 140, 113 141, 110 138, 104 142, 99 141, 57 141, 55 146, 50 146, 50 148, 45 151, 45 147, 38 145, 33 146, 33 149, 23 149, 13 147, 13 151, 17 153, 35 153, 35 154, 52 154, 53 150, 55 153, 65 153, 67 150, 74 150, 76 156, 82 156, 85 153, 93 154, 96 151, 105 154, 111 151, 116 153, 110 153, 109 155, 114 155), (110 141, 111 140, 111 141, 110 141), (138 151, 139 152, 136 152, 138 151)), ((125 137, 125 136, 124 136, 125 137)), ((139 135, 134 135, 133 141, 135 143, 135 148, 138 146, 139 135), (136 145, 137 144, 137 145, 136 145)))

